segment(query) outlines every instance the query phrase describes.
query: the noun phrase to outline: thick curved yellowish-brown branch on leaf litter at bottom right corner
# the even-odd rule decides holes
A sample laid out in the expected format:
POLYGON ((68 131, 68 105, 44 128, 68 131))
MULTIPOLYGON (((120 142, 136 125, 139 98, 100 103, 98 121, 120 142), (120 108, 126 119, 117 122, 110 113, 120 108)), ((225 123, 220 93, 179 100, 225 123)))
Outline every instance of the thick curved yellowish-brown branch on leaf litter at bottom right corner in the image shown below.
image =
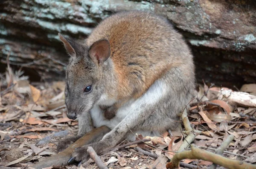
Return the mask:
POLYGON ((191 150, 189 151, 176 153, 173 156, 171 162, 166 164, 166 168, 175 169, 179 166, 180 160, 183 160, 186 158, 211 161, 212 163, 216 163, 228 169, 255 169, 256 168, 255 165, 245 163, 244 161, 231 160, 221 155, 216 155, 212 152, 198 149, 195 146, 191 146, 191 150))

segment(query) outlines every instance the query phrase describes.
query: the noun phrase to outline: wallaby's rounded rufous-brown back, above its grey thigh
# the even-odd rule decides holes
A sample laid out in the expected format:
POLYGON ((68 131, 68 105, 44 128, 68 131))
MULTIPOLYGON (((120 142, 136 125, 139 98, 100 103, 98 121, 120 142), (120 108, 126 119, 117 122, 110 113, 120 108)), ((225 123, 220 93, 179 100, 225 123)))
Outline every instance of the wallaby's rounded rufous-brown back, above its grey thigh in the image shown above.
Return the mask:
POLYGON ((174 67, 179 67, 188 78, 194 78, 187 45, 162 17, 141 11, 113 14, 93 30, 86 40, 87 46, 100 39, 110 42, 119 99, 124 95, 140 97, 174 67))

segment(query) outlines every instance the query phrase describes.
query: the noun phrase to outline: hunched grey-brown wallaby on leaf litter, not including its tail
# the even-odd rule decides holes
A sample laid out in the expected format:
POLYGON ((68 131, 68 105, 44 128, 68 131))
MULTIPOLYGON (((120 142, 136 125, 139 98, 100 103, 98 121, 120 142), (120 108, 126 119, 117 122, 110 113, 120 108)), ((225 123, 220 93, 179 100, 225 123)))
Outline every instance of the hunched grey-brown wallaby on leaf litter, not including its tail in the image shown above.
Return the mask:
POLYGON ((78 119, 77 136, 60 141, 67 148, 94 127, 110 132, 73 151, 71 160, 88 160, 116 146, 130 132, 143 136, 175 130, 180 112, 195 90, 193 57, 168 20, 143 11, 125 11, 99 23, 84 42, 59 34, 70 63, 66 72, 67 117, 78 119))

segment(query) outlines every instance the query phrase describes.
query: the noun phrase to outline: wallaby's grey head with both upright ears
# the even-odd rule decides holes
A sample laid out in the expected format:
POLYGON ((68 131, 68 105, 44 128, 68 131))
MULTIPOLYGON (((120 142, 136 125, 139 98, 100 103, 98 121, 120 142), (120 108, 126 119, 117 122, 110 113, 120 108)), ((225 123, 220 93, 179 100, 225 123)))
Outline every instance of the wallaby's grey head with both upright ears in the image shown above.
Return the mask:
POLYGON ((66 70, 67 117, 76 119, 90 111, 105 91, 103 74, 111 53, 110 44, 102 39, 86 46, 61 34, 59 37, 71 57, 66 70))

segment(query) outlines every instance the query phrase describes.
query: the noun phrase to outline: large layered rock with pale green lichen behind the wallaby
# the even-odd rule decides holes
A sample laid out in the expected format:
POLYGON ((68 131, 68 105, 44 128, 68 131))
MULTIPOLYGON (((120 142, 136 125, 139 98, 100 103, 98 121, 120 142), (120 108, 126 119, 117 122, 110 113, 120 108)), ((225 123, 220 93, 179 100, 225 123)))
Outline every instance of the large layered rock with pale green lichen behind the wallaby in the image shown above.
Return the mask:
POLYGON ((256 82, 254 0, 3 0, 0 9, 1 63, 9 54, 30 77, 64 77, 68 56, 58 32, 84 40, 110 14, 138 9, 163 15, 183 34, 198 82, 238 88, 256 82))

